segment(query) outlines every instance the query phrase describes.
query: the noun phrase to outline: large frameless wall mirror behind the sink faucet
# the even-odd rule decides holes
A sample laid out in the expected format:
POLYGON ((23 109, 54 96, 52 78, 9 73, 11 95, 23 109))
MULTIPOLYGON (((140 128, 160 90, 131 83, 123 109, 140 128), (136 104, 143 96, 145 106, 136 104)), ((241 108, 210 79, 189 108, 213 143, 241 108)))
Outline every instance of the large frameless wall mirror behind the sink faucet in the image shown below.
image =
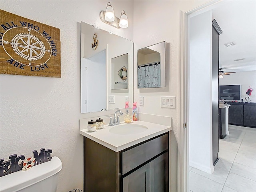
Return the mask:
POLYGON ((80 35, 81 113, 132 106, 133 42, 84 22, 80 35))

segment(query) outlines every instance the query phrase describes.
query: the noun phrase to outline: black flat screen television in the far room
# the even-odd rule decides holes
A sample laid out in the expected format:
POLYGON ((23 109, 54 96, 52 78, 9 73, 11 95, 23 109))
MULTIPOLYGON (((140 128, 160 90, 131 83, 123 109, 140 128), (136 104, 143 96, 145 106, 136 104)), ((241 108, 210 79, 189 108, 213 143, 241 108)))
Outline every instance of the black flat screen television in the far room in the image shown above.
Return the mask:
POLYGON ((220 85, 220 100, 240 100, 240 85, 220 85))

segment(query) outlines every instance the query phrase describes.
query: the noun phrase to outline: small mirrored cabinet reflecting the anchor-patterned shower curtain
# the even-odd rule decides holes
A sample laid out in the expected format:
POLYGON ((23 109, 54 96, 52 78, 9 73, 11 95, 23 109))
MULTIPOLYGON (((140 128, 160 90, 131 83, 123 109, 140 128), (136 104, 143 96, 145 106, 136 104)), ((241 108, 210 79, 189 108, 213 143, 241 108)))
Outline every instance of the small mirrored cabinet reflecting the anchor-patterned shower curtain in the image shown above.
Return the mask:
POLYGON ((138 88, 165 87, 166 42, 138 50, 138 88))

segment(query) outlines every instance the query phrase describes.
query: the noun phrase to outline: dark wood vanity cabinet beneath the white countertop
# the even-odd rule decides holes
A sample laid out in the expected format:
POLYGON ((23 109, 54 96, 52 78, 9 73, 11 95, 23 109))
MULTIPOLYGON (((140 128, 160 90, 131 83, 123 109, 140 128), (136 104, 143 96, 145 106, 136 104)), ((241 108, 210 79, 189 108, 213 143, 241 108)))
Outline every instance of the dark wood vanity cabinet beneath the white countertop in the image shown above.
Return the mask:
POLYGON ((84 137, 84 192, 168 192, 168 137, 120 152, 84 137))

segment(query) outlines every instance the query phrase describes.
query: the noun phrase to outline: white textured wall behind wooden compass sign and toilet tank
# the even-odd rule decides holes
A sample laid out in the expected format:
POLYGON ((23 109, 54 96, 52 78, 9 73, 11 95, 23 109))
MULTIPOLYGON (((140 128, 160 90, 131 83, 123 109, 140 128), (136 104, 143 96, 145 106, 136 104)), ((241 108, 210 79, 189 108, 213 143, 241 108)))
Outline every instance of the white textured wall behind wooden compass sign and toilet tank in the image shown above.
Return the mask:
POLYGON ((1 9, 60 28, 61 78, 1 74, 0 157, 32 156, 52 148, 63 168, 58 191, 83 188, 83 142, 79 134, 80 21, 133 40, 133 2, 111 2, 117 15, 125 10, 129 27, 116 29, 99 17, 108 1, 3 1, 1 9))

